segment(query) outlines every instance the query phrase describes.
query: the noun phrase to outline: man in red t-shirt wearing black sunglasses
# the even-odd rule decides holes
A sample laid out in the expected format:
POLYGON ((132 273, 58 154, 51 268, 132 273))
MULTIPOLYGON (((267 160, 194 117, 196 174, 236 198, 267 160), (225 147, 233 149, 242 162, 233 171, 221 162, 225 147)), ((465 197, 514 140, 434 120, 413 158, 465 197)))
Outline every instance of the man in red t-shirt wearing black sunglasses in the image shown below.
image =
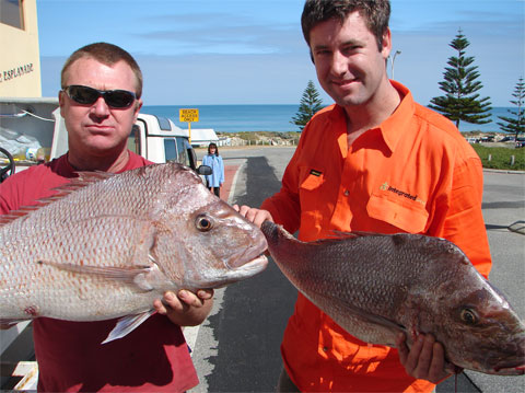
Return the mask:
MULTIPOLYGON (((142 106, 141 93, 142 73, 126 50, 96 43, 74 51, 63 66, 58 94, 69 151, 3 182, 0 213, 51 196, 55 187, 77 177, 77 171, 120 173, 150 164, 127 149, 142 106)), ((183 392, 197 385, 180 326, 205 320, 213 292, 197 293, 166 292, 152 304, 156 314, 127 336, 104 345, 116 320, 34 320, 38 391, 183 392)))

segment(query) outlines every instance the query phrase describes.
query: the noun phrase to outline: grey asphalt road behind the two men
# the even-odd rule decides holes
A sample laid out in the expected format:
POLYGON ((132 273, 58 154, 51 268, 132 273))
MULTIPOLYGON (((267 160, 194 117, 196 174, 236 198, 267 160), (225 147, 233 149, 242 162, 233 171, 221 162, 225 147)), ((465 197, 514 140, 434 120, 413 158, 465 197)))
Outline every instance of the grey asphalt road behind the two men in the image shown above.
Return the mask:
MULTIPOLYGON (((238 170, 231 203, 258 207, 280 188, 293 148, 221 149, 225 165, 238 170)), ((485 172, 483 217, 493 268, 490 280, 525 317, 525 175, 485 172), (516 227, 516 226, 514 226, 516 227)), ((190 345, 201 383, 191 392, 272 392, 281 369, 279 346, 296 290, 270 261, 262 274, 215 291, 211 315, 190 345)), ((524 392, 525 377, 467 371, 436 392, 524 392)))

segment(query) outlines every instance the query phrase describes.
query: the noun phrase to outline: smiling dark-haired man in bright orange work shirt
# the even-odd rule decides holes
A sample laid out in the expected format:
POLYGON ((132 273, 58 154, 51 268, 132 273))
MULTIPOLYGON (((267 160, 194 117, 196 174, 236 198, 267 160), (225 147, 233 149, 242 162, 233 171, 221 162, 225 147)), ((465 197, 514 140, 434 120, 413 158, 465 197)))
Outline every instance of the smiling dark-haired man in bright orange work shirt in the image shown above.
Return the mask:
MULTIPOLYGON (((481 274, 491 267, 481 215, 482 167, 443 116, 386 74, 388 0, 307 0, 302 27, 323 89, 334 99, 304 128, 281 190, 261 209, 303 241, 334 231, 422 233, 457 244, 481 274)), ((371 271, 371 275, 374 273, 371 271)), ((279 391, 431 392, 447 377, 431 335, 410 348, 369 345, 299 294, 284 332, 279 391)))

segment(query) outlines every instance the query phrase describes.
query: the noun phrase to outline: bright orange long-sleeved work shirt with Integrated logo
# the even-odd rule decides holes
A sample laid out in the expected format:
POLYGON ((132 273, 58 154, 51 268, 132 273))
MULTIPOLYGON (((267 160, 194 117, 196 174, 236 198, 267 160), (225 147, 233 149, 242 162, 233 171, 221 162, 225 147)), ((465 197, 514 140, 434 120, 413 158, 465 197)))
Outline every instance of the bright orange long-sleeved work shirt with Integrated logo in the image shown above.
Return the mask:
MULTIPOLYGON (((276 222, 303 241, 334 231, 422 233, 458 245, 487 277, 491 258, 481 213, 482 166, 445 117, 402 100, 378 127, 347 146, 338 105, 305 127, 282 188, 264 201, 276 222)), ((374 273, 371 271, 371 275, 374 273)), ((431 392, 409 377, 397 349, 368 345, 299 294, 281 345, 284 367, 302 391, 431 392)))

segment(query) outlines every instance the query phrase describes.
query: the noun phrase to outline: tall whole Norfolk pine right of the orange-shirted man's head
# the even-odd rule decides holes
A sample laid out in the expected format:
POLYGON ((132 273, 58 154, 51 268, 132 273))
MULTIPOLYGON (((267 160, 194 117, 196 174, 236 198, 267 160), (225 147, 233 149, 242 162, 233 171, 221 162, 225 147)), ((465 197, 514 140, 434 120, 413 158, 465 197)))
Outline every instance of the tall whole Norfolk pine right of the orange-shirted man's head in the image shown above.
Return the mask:
POLYGON ((441 112, 448 117, 459 128, 459 122, 471 124, 490 123, 490 102, 489 97, 479 99, 476 92, 482 88, 477 66, 471 66, 474 57, 466 57, 465 49, 470 45, 468 39, 458 31, 456 37, 450 46, 457 50, 458 57, 450 57, 443 73, 444 81, 440 82, 440 89, 446 95, 433 97, 429 107, 441 112))

